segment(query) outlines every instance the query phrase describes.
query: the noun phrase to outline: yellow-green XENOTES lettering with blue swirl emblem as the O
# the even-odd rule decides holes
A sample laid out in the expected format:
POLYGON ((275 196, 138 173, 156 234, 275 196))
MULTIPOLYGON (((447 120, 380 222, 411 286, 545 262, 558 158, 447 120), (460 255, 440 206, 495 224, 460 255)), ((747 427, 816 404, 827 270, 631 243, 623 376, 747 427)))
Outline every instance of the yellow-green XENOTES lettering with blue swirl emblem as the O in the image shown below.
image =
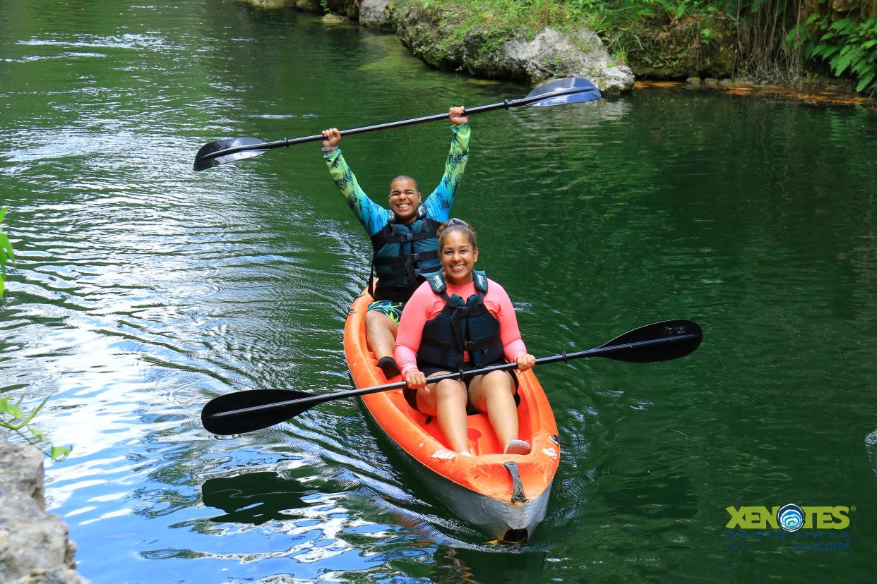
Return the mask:
POLYGON ((725 524, 728 529, 837 529, 850 526, 850 508, 843 505, 833 507, 799 507, 793 503, 782 507, 726 507, 731 519, 725 524))

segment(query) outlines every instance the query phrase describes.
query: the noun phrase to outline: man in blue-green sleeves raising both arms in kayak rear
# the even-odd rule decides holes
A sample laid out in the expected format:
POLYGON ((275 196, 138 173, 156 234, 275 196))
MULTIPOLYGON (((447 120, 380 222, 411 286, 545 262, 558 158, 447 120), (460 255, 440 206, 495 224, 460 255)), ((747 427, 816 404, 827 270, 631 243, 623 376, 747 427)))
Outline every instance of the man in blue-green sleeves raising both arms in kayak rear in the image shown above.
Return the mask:
POLYGON ((374 302, 366 314, 366 337, 388 379, 399 372, 393 344, 403 306, 424 281, 421 274, 440 267, 436 229, 451 216, 469 158, 471 129, 464 112, 462 107, 448 110, 453 136, 439 186, 421 201, 417 180, 399 175, 389 186, 389 210, 372 201, 353 176, 339 149, 341 132, 337 128, 323 130, 323 158, 329 173, 372 240, 372 274, 376 272, 378 284, 373 289, 372 277, 368 278, 374 302))

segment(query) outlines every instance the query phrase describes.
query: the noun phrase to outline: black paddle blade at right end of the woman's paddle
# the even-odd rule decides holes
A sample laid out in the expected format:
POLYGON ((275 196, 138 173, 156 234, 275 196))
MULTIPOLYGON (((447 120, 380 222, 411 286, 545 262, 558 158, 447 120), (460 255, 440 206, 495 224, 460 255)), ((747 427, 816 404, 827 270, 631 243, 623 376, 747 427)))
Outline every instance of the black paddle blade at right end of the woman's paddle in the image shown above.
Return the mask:
POLYGON ((679 359, 694 352, 703 340, 701 326, 694 320, 662 320, 645 327, 635 328, 628 333, 617 336, 601 347, 624 345, 650 341, 649 344, 634 346, 628 349, 613 351, 610 355, 601 355, 631 363, 653 363, 679 359), (673 337, 681 337, 674 339, 673 337), (666 339, 666 342, 662 342, 666 339))

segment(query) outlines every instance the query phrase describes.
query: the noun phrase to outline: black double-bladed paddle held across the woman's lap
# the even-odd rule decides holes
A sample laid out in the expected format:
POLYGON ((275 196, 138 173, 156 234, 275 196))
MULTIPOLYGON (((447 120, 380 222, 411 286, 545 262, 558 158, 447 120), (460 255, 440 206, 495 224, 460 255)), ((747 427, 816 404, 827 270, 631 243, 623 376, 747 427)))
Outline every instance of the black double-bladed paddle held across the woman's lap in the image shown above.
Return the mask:
MULTIPOLYGON (((536 360, 536 364, 567 362, 581 357, 607 357, 616 361, 635 363, 670 361, 691 354, 701 344, 702 338, 703 331, 693 320, 663 320, 635 328, 597 348, 541 357, 536 360)), ((476 376, 516 367, 517 363, 503 363, 473 369, 462 375, 476 376)), ((455 379, 460 375, 459 371, 446 373, 428 377, 426 382, 455 379)), ((211 399, 201 412, 201 423, 208 432, 219 435, 253 432, 295 418, 317 404, 379 391, 398 390, 407 385, 404 381, 400 381, 317 396, 294 390, 234 391, 211 399)))

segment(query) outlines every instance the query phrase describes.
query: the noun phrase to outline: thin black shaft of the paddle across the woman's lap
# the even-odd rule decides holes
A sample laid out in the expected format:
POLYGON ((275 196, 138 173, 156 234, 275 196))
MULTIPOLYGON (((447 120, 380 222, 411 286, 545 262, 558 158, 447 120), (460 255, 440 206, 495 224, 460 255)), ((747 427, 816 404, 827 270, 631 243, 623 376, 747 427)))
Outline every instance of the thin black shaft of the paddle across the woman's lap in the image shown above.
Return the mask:
MULTIPOLYGON (((676 334, 661 339, 650 339, 647 341, 627 342, 609 347, 588 348, 584 351, 576 351, 574 353, 560 353, 560 355, 552 355, 550 357, 540 357, 536 360, 536 365, 546 365, 555 362, 567 362, 581 357, 598 357, 606 353, 617 353, 619 351, 631 350, 635 348, 644 348, 652 345, 666 344, 671 342, 689 341, 697 338, 697 334, 676 334)), ((490 367, 482 367, 481 369, 473 369, 471 371, 457 371, 456 373, 446 373, 426 378, 426 383, 436 383, 445 379, 456 379, 461 376, 476 376, 490 373, 491 371, 506 371, 517 368, 517 363, 503 363, 501 365, 492 365, 490 367)), ((355 398, 357 396, 365 396, 369 393, 379 393, 381 391, 398 390, 407 387, 408 383, 399 381, 396 383, 386 383, 384 385, 375 385, 374 387, 364 387, 358 390, 337 391, 322 396, 311 396, 310 398, 290 399, 275 404, 253 405, 252 407, 242 408, 240 410, 232 410, 231 412, 216 412, 212 414, 213 418, 225 418, 225 416, 246 415, 253 412, 264 412, 267 410, 275 410, 289 405, 304 406, 307 409, 311 405, 322 404, 324 402, 333 401, 342 398, 355 398)))

